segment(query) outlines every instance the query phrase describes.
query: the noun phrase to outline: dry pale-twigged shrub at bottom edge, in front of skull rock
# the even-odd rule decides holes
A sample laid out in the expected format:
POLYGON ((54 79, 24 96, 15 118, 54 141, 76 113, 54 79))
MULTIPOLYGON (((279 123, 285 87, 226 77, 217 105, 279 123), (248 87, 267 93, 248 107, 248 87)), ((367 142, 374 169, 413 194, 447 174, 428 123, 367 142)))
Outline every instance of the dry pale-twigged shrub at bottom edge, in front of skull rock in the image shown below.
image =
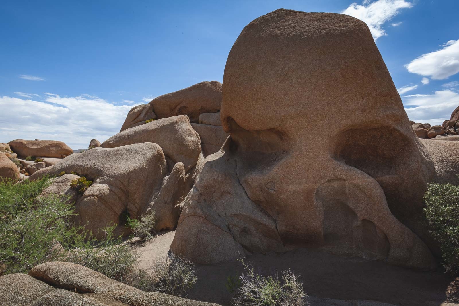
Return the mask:
POLYGON ((239 291, 233 298, 235 306, 304 306, 309 305, 303 291, 303 284, 290 269, 282 271, 281 279, 277 273, 262 276, 255 273, 252 265, 244 265, 239 291))

